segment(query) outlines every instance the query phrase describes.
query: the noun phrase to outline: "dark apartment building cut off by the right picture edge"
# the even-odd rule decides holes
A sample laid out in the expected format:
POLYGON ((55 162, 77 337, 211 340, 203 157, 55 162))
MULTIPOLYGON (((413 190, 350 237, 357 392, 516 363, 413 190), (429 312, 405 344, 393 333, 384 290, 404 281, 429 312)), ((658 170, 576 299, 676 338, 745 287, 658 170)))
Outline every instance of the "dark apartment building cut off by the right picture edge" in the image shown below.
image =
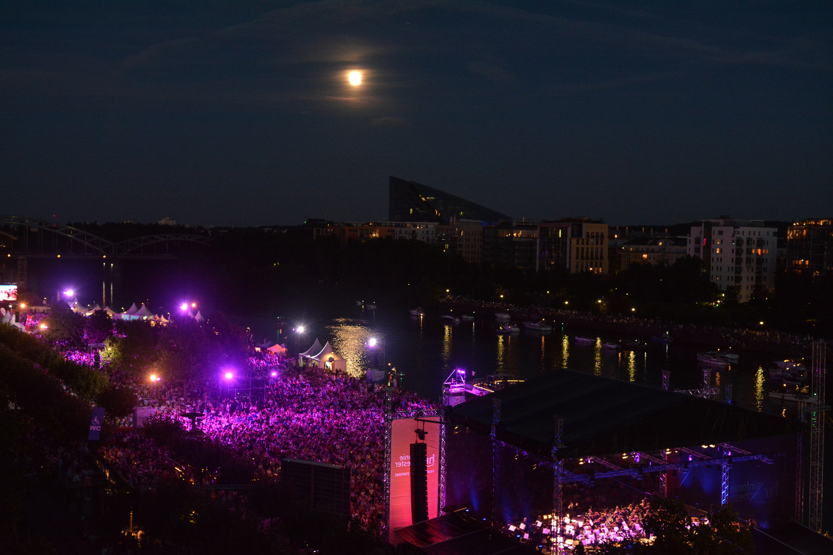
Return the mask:
POLYGON ((833 219, 799 221, 787 229, 788 270, 821 274, 833 270, 833 219))

